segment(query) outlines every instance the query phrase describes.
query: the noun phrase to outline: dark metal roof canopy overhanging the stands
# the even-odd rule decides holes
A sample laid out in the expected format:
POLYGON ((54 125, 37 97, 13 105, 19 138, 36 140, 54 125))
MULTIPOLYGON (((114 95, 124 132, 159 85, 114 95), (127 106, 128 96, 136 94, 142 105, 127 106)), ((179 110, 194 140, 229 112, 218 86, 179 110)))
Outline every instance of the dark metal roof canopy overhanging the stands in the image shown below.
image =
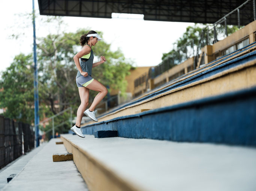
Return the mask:
MULTIPOLYGON (((112 13, 143 14, 144 20, 213 24, 245 0, 38 0, 40 15, 111 18, 112 13)), ((238 25, 238 15, 227 18, 238 25)), ((240 9, 240 24, 253 21, 253 1, 240 9)))

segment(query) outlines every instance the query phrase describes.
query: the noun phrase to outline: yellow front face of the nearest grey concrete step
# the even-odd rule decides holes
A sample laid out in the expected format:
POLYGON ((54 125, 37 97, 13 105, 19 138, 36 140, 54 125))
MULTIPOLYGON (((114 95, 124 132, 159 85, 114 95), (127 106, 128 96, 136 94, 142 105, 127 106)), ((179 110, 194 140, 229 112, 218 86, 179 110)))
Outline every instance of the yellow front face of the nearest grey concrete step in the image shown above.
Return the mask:
POLYGON ((139 185, 124 180, 95 159, 87 151, 61 136, 68 152, 72 152, 73 161, 91 191, 144 191, 139 185))

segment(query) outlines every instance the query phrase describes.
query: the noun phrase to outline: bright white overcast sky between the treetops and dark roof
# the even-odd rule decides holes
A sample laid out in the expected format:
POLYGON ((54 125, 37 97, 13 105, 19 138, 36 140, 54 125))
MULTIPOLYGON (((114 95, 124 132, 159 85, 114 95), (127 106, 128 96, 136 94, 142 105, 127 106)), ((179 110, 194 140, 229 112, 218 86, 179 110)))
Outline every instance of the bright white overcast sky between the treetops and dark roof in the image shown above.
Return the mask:
MULTIPOLYGON (((35 9, 39 13, 38 2, 35 0, 35 9)), ((0 71, 5 70, 12 63, 15 55, 31 53, 33 48, 32 21, 20 14, 32 12, 32 0, 12 0, 0 2, 0 71), (13 6, 14 5, 14 6, 13 6), (22 26, 29 25, 23 29, 22 26), (18 39, 10 39, 11 34, 22 34, 18 39)), ((186 31, 192 23, 144 21, 141 16, 136 19, 127 19, 131 15, 113 14, 115 18, 79 18, 63 17, 67 24, 63 32, 75 32, 79 28, 91 28, 102 31, 103 39, 111 43, 111 50, 119 47, 127 59, 134 61, 134 66, 156 66, 161 62, 162 54, 172 49, 172 44, 186 31), (126 18, 117 18, 126 17, 126 18)), ((43 28, 39 16, 36 19, 36 36, 43 37, 55 33, 55 27, 43 28)), ((100 43, 100 41, 99 41, 100 43)), ((96 45, 97 46, 97 45, 96 45)), ((94 60, 96 62, 97 60, 94 60)))

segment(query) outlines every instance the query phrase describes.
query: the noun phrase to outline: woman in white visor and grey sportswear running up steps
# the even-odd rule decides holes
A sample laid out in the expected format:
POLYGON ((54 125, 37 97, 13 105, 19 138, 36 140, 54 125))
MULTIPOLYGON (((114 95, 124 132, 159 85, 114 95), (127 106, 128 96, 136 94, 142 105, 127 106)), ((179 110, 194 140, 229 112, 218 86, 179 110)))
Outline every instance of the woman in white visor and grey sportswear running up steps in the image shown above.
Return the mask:
POLYGON ((107 88, 105 88, 99 81, 91 77, 91 69, 106 61, 105 56, 101 56, 100 62, 93 63, 93 50, 91 47, 95 46, 96 43, 101 39, 102 38, 100 38, 95 31, 89 31, 87 34, 82 35, 80 38, 82 50, 73 57, 75 65, 78 68, 76 84, 78 86, 81 105, 77 110, 76 124, 71 128, 71 130, 82 138, 85 137, 82 134, 81 129, 81 120, 83 114, 87 115, 94 121, 98 121, 95 117, 96 110, 94 111, 94 109, 108 93, 107 88), (98 91, 99 94, 96 95, 91 106, 85 110, 89 101, 89 90, 98 91))

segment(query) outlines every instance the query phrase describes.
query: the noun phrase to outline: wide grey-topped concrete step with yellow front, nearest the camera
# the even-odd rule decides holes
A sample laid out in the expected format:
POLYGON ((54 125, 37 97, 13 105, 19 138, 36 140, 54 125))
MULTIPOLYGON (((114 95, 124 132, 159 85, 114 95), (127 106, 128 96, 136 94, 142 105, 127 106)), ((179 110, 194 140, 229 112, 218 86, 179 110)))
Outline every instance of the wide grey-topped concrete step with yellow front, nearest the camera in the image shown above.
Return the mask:
POLYGON ((62 134, 91 191, 252 191, 256 149, 62 134))

